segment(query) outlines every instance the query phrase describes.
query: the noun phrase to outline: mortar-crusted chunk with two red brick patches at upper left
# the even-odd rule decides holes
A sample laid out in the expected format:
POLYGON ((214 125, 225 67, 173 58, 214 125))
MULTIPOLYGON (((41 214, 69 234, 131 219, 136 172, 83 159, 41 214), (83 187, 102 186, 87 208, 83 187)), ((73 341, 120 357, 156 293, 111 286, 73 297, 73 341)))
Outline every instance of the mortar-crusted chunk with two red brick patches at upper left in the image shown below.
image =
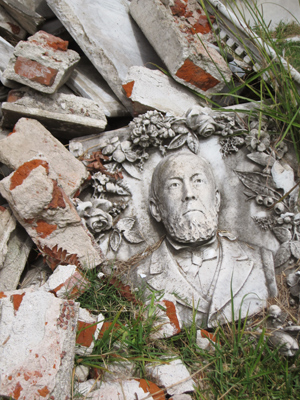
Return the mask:
POLYGON ((78 53, 68 50, 67 41, 39 31, 17 44, 3 77, 52 94, 68 80, 79 60, 78 53))

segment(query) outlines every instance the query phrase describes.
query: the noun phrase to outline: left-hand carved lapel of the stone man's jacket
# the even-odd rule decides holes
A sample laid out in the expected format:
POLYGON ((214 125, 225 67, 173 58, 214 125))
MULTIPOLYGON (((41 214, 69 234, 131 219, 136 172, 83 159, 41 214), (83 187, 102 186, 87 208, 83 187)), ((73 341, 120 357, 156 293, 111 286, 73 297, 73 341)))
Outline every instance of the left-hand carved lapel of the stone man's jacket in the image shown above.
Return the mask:
POLYGON ((176 261, 170 254, 165 242, 162 243, 151 258, 150 274, 152 277, 148 284, 156 290, 165 290, 176 295, 177 301, 183 305, 194 306, 207 313, 208 302, 198 293, 180 273, 176 261))

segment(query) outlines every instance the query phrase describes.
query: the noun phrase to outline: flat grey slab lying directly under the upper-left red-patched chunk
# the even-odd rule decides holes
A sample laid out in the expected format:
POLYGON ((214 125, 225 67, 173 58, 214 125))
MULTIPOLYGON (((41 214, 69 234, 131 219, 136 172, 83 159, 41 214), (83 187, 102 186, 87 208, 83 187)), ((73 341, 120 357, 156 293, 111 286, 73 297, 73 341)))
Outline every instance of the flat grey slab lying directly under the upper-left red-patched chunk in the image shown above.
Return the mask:
POLYGON ((28 88, 12 90, 2 103, 2 113, 5 128, 13 128, 21 117, 34 118, 53 135, 67 139, 99 133, 107 124, 102 108, 93 100, 28 88))

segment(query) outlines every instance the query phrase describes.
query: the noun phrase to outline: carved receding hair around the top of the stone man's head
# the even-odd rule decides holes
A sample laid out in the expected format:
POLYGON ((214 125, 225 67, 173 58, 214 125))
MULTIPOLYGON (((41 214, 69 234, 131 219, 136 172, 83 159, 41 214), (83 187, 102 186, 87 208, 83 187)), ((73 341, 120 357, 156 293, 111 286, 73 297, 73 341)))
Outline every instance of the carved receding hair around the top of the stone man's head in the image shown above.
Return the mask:
POLYGON ((199 159, 199 164, 202 164, 202 167, 205 169, 205 173, 208 175, 208 178, 211 180, 211 182, 216 187, 215 177, 212 172, 211 166, 207 160, 205 160, 203 157, 200 157, 194 153, 187 152, 187 151, 181 152, 181 153, 173 153, 173 154, 170 154, 167 157, 163 158, 155 167, 153 174, 152 174, 151 184, 150 184, 149 201, 154 201, 156 204, 159 203, 159 186, 161 183, 160 179, 162 176, 162 172, 164 171, 164 169, 166 169, 168 167, 168 165, 173 160, 176 160, 176 158, 178 158, 180 156, 197 157, 199 159))

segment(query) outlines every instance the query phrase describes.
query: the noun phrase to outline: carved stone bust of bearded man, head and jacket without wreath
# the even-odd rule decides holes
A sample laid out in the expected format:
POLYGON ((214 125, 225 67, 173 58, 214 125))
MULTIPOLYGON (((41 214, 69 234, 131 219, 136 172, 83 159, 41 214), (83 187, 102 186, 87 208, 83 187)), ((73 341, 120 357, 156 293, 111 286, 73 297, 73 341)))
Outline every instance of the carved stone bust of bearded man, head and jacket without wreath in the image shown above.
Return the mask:
POLYGON ((176 297, 183 322, 196 310, 198 326, 253 315, 277 293, 270 250, 219 230, 221 196, 210 164, 191 152, 155 167, 151 216, 163 224, 162 244, 135 270, 138 285, 176 297), (232 316, 232 301, 235 316, 232 316))

